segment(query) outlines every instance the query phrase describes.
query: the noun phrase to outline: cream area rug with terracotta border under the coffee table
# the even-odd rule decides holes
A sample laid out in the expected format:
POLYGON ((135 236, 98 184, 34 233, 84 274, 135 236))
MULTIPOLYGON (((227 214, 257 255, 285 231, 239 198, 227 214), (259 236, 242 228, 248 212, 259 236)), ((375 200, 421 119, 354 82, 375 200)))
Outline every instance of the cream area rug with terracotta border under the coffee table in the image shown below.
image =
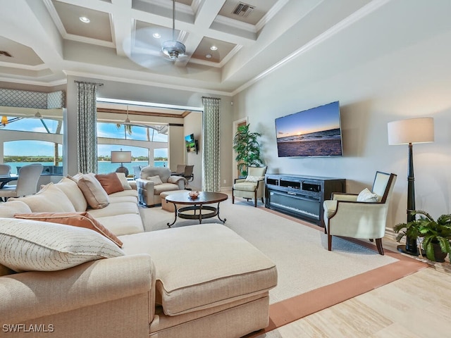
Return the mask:
MULTIPOLYGON (((174 219, 173 213, 159 206, 142 208, 142 213, 147 231, 168 229, 167 223, 174 219)), ((328 251, 323 228, 266 209, 261 203, 254 208, 242 199, 232 204, 229 198, 221 202, 220 215, 226 218, 225 226, 277 265, 278 285, 269 292, 270 325, 264 332, 427 267, 386 249, 381 256, 366 241, 333 237, 332 251, 328 251)), ((222 225, 218 218, 203 223, 222 225)), ((173 227, 192 224, 198 222, 178 220, 173 227)))

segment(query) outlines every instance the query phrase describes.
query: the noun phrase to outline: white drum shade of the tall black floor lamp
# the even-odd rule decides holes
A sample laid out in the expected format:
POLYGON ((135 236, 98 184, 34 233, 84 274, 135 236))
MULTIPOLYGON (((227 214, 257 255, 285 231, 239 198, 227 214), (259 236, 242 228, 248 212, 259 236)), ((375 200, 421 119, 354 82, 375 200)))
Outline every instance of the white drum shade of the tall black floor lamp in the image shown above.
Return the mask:
POLYGON ((388 144, 434 142, 433 118, 409 118, 388 123, 388 144))

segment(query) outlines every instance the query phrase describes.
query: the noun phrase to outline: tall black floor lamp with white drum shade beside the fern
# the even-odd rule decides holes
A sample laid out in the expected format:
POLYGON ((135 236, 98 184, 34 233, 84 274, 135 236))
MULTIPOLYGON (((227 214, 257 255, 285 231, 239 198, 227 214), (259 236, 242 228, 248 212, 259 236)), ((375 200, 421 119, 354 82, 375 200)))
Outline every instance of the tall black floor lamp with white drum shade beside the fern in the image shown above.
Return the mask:
MULTIPOLYGON (((415 179, 414 155, 412 144, 434 142, 433 118, 409 118, 388 123, 388 144, 409 144, 409 168, 407 173, 407 222, 415 220, 415 179)), ((397 246, 397 250, 418 256, 416 238, 406 237, 406 245, 397 246)))

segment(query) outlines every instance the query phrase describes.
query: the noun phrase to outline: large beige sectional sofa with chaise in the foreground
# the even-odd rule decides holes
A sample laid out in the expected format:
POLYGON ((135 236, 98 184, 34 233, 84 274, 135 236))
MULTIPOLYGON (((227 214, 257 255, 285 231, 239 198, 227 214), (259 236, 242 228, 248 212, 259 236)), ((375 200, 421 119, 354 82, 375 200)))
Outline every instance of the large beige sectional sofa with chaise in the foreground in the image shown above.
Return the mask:
POLYGON ((138 232, 142 222, 132 216, 135 209, 129 205, 137 206, 135 190, 110 194, 108 206, 87 209, 117 235, 121 249, 93 230, 12 218, 16 213, 42 212, 46 205, 57 208, 51 206, 55 196, 67 204, 60 192, 74 209, 81 208, 82 201, 75 199, 80 196, 77 184, 64 179, 60 183, 0 204, 0 263, 11 267, 5 257, 22 255, 17 252, 20 245, 11 249, 5 244, 21 238, 18 230, 31 238, 29 242, 38 242, 39 250, 41 239, 35 237, 46 240, 48 234, 49 246, 72 238, 81 241, 63 253, 70 258, 62 262, 58 256, 54 262, 51 256, 47 265, 68 264, 74 255, 80 259, 72 252, 78 247, 83 248, 82 259, 87 259, 94 242, 101 244, 102 257, 108 252, 111 258, 75 261, 63 269, 24 269, 20 264, 41 266, 43 261, 42 256, 37 262, 27 261, 34 257, 28 248, 25 263, 20 263, 20 256, 13 265, 21 272, 0 264, 1 337, 242 337, 268 325, 268 291, 277 283, 276 266, 223 225, 138 232), (13 236, 8 237, 8 231, 13 236))

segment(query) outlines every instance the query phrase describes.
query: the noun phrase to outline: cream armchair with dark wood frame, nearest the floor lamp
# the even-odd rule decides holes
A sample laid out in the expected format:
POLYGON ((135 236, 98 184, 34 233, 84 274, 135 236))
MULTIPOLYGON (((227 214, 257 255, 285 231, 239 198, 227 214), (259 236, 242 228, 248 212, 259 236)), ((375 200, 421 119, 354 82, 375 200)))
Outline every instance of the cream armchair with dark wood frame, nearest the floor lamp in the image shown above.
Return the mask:
POLYGON ((335 193, 324 201, 324 231, 328 235, 328 250, 332 250, 332 236, 376 239, 378 252, 383 255, 388 206, 396 175, 376 172, 371 192, 360 194, 335 193))

